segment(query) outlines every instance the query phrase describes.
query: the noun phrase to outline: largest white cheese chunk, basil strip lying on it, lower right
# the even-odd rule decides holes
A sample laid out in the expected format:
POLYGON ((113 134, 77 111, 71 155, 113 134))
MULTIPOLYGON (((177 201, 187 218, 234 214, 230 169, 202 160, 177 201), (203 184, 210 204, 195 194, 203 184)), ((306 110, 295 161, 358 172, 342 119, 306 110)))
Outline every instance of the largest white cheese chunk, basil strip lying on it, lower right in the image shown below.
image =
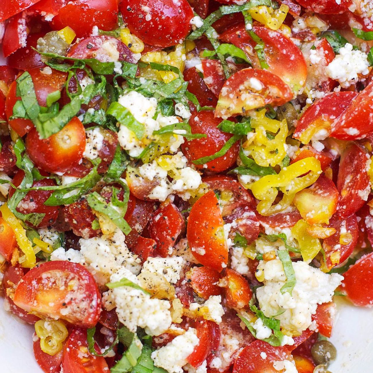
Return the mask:
POLYGON ((327 275, 303 261, 292 263, 297 283, 292 290, 282 293, 286 282, 282 262, 278 259, 260 261, 257 271, 264 275, 263 284, 257 289, 260 309, 267 317, 275 316, 280 325, 289 330, 303 332, 311 325, 311 316, 316 313, 317 304, 332 301, 334 290, 343 277, 337 273, 327 275), (284 311, 282 314, 279 312, 284 311))

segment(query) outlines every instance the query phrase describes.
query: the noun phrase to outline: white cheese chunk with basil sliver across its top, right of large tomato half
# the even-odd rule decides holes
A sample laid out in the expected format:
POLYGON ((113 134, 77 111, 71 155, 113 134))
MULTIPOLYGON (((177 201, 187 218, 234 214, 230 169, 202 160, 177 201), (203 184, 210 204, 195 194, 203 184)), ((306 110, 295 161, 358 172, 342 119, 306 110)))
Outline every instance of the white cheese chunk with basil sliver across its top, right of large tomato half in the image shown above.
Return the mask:
MULTIPOLYGON (((116 282, 123 278, 140 286, 138 278, 125 267, 113 273, 110 281, 116 282)), ((149 294, 131 286, 112 289, 110 298, 116 305, 119 321, 131 332, 136 332, 137 327, 142 327, 148 335, 160 335, 171 326, 170 303, 166 300, 150 298, 149 294)))

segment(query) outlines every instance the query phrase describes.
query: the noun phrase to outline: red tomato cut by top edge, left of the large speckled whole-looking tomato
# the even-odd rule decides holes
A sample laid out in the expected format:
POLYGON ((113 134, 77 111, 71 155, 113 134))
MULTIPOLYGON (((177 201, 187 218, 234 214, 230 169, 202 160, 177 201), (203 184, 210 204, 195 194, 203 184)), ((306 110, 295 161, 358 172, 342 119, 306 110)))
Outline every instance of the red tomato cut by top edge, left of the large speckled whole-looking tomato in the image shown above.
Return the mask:
POLYGON ((116 0, 76 0, 66 3, 52 19, 52 27, 60 30, 71 27, 78 38, 91 34, 93 26, 111 31, 117 28, 116 0), (73 17, 72 15, 76 15, 73 17))

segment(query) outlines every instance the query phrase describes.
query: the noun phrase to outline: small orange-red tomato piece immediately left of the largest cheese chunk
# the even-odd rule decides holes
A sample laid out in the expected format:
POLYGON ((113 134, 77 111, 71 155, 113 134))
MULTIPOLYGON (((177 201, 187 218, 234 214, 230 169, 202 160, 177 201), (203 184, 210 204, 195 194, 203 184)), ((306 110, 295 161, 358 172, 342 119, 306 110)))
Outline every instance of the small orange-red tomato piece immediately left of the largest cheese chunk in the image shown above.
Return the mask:
POLYGON ((232 308, 248 308, 253 292, 247 280, 230 268, 226 268, 223 275, 224 277, 220 280, 220 286, 223 286, 228 306, 232 308))

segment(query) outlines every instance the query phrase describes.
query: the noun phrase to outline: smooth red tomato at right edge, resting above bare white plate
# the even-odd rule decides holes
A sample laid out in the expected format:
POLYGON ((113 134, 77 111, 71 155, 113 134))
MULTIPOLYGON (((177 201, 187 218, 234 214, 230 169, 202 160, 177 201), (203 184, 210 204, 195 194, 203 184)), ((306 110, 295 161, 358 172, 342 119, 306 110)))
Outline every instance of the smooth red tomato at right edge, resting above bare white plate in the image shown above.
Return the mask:
POLYGON ((373 253, 361 257, 343 276, 342 289, 348 299, 354 305, 372 307, 373 253))

